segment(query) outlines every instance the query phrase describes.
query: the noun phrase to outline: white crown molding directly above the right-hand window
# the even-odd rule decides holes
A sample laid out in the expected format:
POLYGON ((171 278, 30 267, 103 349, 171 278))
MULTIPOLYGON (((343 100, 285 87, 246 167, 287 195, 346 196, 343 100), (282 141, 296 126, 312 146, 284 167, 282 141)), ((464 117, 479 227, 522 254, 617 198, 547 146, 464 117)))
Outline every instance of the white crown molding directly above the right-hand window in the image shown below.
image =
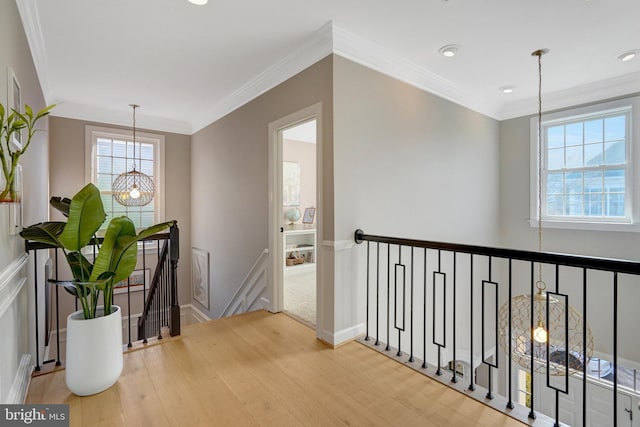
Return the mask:
MULTIPOLYGON (((557 92, 542 94, 545 112, 576 107, 605 99, 640 93, 640 72, 580 85, 557 92)), ((538 111, 538 98, 528 98, 504 105, 497 115, 498 120, 530 116, 538 111)))

